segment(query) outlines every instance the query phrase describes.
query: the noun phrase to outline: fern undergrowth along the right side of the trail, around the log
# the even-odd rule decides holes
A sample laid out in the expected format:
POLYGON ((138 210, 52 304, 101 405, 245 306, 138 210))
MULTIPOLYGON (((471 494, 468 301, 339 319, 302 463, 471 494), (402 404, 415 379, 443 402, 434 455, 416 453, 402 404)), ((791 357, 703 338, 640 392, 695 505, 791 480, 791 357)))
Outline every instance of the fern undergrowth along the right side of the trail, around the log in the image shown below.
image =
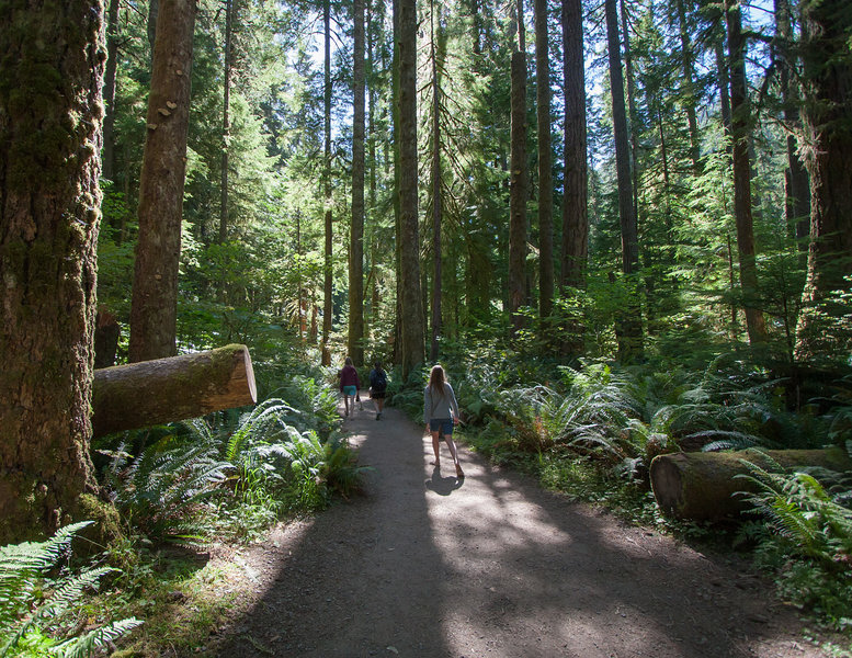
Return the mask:
POLYGON ((749 498, 752 520, 739 530, 662 515, 648 477, 654 457, 680 450, 848 442, 848 386, 836 385, 832 397, 791 410, 785 382, 728 359, 701 372, 591 361, 548 368, 516 355, 504 363, 459 361, 454 386, 469 423, 463 436, 490 461, 531 473, 547 488, 628 522, 719 549, 748 549, 772 574, 784 600, 823 628, 852 638, 849 474, 752 466, 760 492, 749 498))

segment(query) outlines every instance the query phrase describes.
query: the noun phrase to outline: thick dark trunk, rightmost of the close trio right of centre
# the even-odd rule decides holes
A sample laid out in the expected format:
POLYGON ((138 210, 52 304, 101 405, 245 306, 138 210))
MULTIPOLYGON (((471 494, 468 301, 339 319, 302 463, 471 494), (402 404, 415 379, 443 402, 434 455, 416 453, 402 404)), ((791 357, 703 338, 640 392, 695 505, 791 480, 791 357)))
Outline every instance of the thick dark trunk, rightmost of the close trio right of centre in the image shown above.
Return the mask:
POLYGON ((586 60, 582 3, 563 0, 565 53, 565 189, 563 192, 561 284, 584 287, 589 257, 588 149, 586 144, 586 60))

